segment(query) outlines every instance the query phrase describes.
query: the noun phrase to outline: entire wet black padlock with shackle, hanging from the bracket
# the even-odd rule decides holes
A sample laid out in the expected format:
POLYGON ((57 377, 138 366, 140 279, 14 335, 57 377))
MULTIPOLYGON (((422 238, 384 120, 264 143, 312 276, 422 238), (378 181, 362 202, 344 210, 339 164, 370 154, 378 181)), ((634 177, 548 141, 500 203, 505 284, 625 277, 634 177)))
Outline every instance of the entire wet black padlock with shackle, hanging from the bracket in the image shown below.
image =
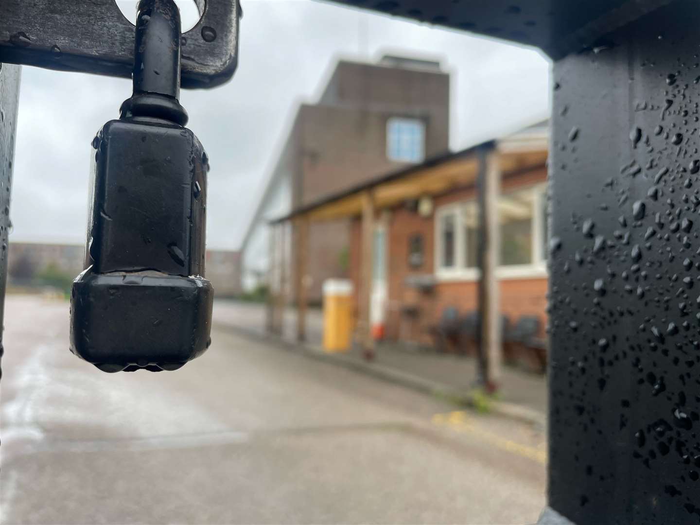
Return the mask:
POLYGON ((207 154, 179 103, 179 11, 139 2, 134 94, 92 142, 85 271, 71 351, 105 372, 176 370, 211 342, 204 279, 207 154))

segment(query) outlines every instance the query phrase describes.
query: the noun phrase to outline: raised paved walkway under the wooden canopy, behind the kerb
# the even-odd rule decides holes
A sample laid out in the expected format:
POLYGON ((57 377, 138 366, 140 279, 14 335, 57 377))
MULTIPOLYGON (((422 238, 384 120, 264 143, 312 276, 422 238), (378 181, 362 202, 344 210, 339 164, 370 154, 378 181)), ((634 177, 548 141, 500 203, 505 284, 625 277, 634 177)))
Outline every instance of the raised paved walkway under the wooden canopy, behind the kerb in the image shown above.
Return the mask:
MULTIPOLYGON (((214 323, 265 335, 265 306, 251 302, 217 300, 214 323)), ((295 310, 289 308, 284 316, 283 339, 294 342, 295 334, 295 310)), ((321 351, 322 334, 321 311, 311 309, 307 314, 308 345, 321 351)), ((363 361, 363 356, 357 350, 344 353, 343 356, 363 361)), ((374 363, 457 390, 470 388, 476 377, 474 358, 418 351, 400 344, 379 344, 374 363)), ((538 374, 504 367, 500 400, 547 414, 547 379, 538 374)))

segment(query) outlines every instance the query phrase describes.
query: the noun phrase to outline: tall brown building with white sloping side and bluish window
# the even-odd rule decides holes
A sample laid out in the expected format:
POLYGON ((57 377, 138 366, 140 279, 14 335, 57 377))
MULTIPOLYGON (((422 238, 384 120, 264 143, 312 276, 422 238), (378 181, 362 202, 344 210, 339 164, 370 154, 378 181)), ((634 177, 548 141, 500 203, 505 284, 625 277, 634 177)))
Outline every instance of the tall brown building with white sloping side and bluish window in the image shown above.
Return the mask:
MULTIPOLYGON (((385 56, 338 62, 316 104, 302 104, 241 246, 243 287, 265 283, 267 221, 449 147, 449 74, 439 62, 385 56)), ((348 275, 346 221, 312 225, 309 297, 348 275)), ((286 239, 287 251, 290 233, 286 239)))

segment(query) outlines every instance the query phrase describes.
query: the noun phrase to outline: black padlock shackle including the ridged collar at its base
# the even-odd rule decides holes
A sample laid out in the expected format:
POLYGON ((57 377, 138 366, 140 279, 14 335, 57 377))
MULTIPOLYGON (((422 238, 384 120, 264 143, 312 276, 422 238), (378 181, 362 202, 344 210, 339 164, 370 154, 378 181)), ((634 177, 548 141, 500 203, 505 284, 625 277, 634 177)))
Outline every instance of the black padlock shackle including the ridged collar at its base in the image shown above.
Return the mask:
POLYGON ((140 0, 134 38, 134 94, 122 118, 153 117, 186 125, 180 105, 180 11, 173 0, 140 0))

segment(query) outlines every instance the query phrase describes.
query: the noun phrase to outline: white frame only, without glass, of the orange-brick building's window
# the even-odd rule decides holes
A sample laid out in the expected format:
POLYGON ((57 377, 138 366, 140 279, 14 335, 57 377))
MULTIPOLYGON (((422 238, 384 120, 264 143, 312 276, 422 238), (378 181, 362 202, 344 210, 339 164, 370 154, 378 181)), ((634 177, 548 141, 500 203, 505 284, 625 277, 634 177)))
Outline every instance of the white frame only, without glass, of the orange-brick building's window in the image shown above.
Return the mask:
MULTIPOLYGON (((543 199, 546 199, 545 191, 547 183, 533 184, 528 188, 519 188, 512 193, 530 191, 533 194, 533 220, 532 220, 532 254, 533 262, 528 265, 500 265, 496 267, 497 279, 538 279, 547 277, 547 254, 545 253, 545 239, 542 239, 543 222, 547 221, 543 207, 543 199)), ((506 192, 503 195, 508 195, 506 192)), ((444 204, 435 209, 435 276, 440 281, 475 281, 479 278, 478 268, 465 268, 465 239, 461 224, 461 211, 465 204, 473 200, 444 204), (455 266, 442 267, 442 217, 454 214, 456 225, 455 238, 455 266)), ((499 236, 500 239, 500 236, 499 236)), ((500 247, 497 252, 500 256, 500 247)))

